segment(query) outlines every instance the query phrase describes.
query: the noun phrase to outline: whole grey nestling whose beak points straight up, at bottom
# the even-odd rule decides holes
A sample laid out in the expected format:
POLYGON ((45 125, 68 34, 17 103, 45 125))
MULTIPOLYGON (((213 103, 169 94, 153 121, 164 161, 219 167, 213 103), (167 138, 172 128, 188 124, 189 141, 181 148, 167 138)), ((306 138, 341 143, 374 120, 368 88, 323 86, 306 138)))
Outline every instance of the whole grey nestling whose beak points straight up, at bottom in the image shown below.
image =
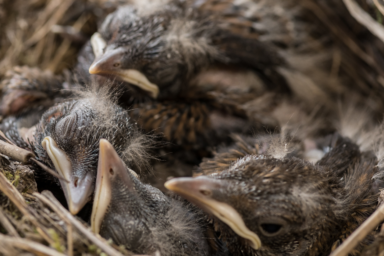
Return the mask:
POLYGON ((136 254, 208 255, 200 216, 188 203, 141 183, 106 139, 99 143, 91 228, 136 254))

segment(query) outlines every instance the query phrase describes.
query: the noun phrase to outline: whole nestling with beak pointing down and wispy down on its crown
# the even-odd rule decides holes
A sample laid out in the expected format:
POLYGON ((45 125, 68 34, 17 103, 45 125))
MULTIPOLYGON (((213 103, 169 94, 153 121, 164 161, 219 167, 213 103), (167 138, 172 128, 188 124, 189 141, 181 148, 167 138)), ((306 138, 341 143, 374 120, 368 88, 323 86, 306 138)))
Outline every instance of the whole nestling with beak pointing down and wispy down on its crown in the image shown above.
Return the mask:
MULTIPOLYGON (((72 214, 78 213, 93 195, 101 138, 111 141, 118 154, 140 171, 135 164, 141 160, 132 159, 132 154, 143 149, 135 140, 137 130, 128 112, 102 92, 84 93, 84 97, 59 102, 41 112, 37 124, 25 121, 31 119, 29 113, 24 118, 5 119, 2 129, 15 144, 31 150, 36 159, 67 180, 60 179, 60 184, 72 214)), ((44 182, 49 176, 39 167, 34 169, 37 181, 44 182)))

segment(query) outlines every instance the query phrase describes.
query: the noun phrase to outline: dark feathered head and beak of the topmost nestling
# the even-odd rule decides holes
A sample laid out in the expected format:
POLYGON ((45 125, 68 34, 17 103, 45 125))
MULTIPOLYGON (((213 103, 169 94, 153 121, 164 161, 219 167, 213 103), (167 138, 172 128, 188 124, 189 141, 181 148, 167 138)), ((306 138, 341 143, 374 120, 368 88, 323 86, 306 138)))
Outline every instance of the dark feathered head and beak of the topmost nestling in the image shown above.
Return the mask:
POLYGON ((120 7, 91 37, 95 59, 89 73, 138 86, 153 98, 177 92, 182 79, 216 54, 208 21, 191 18, 185 4, 169 3, 151 11, 120 7), (204 28, 204 29, 203 29, 204 28))

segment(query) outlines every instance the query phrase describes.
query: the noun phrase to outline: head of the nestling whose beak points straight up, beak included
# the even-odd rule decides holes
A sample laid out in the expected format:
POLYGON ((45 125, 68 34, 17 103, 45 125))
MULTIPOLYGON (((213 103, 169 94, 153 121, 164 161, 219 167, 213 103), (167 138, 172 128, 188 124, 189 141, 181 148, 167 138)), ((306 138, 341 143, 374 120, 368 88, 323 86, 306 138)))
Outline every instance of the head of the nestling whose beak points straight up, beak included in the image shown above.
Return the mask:
POLYGON ((91 229, 136 253, 154 253, 157 235, 170 227, 167 197, 141 183, 106 139, 99 144, 99 160, 91 229), (157 234, 157 235, 156 235, 157 234))

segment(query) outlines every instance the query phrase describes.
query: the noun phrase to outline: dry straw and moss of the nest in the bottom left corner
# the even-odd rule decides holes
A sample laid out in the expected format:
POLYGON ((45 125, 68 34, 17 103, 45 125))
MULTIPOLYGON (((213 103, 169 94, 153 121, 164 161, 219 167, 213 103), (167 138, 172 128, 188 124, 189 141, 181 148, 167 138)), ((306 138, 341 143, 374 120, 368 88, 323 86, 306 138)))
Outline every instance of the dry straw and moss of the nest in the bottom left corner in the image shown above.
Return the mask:
POLYGON ((36 186, 29 189, 35 181, 26 177, 28 167, 20 168, 2 154, 0 166, 0 255, 25 251, 50 256, 133 254, 92 233, 89 225, 72 216, 51 192, 40 194, 34 191, 36 186))

